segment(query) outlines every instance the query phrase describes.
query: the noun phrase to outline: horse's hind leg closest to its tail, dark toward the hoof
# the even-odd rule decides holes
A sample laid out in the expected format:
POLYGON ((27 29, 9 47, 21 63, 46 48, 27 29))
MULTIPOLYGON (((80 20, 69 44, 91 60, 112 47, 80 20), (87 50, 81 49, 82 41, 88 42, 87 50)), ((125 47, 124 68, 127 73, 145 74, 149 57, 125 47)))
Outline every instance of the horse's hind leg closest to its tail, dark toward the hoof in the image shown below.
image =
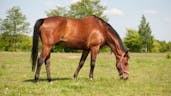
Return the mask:
MULTIPOLYGON (((43 62, 49 56, 50 50, 51 50, 51 47, 49 47, 49 46, 44 46, 43 49, 42 49, 42 53, 41 53, 41 55, 40 55, 40 57, 38 59, 38 63, 37 63, 37 70, 36 70, 36 74, 35 74, 35 81, 36 82, 39 80, 39 74, 40 74, 41 66, 42 66, 43 62)), ((49 74, 50 74, 50 72, 49 72, 49 74)))

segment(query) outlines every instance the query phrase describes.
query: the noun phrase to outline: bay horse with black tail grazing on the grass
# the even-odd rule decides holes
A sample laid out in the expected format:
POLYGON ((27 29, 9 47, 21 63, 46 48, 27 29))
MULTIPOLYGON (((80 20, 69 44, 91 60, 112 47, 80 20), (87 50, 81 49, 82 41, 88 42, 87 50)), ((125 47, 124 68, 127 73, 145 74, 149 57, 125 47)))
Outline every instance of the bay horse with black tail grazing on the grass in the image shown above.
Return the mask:
POLYGON ((35 80, 39 80, 41 65, 45 62, 47 79, 50 76, 50 51, 55 44, 74 48, 82 51, 82 56, 74 73, 78 73, 91 51, 91 63, 89 78, 93 79, 96 56, 99 49, 108 45, 116 56, 116 67, 122 79, 128 78, 128 51, 123 47, 122 41, 110 24, 97 16, 88 16, 80 19, 66 18, 61 16, 39 19, 34 26, 32 46, 32 70, 35 70, 38 56, 39 36, 42 41, 42 52, 37 62, 35 80))

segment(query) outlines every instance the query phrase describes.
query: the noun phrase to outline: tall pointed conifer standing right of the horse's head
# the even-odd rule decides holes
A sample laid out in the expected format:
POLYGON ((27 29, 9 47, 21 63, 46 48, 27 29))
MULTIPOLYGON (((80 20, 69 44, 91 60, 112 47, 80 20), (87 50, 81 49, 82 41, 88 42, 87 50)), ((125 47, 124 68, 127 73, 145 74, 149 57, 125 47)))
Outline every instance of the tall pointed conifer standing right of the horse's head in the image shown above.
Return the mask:
POLYGON ((146 21, 145 16, 142 16, 141 23, 139 25, 138 33, 140 35, 141 48, 145 52, 150 52, 153 44, 153 36, 151 35, 151 28, 149 23, 146 21))

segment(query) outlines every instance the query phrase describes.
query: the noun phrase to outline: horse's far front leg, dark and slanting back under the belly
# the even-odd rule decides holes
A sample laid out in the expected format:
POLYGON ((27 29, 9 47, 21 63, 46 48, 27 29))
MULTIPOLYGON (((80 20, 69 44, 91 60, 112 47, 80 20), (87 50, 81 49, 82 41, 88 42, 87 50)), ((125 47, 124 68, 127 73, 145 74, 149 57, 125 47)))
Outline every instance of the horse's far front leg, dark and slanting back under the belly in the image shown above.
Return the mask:
POLYGON ((88 56, 88 53, 89 53, 89 50, 83 50, 79 65, 78 65, 78 67, 77 67, 77 69, 75 70, 75 73, 74 73, 74 78, 77 78, 78 73, 79 73, 80 69, 83 67, 84 62, 85 62, 85 60, 86 60, 86 58, 88 56))

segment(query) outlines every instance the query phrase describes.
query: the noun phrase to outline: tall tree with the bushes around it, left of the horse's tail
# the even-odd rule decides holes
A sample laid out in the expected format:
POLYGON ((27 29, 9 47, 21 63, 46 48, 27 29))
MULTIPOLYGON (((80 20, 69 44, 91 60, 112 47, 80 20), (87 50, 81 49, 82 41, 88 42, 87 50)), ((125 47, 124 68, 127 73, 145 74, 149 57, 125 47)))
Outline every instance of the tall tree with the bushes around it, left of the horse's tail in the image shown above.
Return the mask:
POLYGON ((0 19, 0 50, 26 51, 31 48, 30 23, 17 6, 7 11, 5 19, 0 19))

